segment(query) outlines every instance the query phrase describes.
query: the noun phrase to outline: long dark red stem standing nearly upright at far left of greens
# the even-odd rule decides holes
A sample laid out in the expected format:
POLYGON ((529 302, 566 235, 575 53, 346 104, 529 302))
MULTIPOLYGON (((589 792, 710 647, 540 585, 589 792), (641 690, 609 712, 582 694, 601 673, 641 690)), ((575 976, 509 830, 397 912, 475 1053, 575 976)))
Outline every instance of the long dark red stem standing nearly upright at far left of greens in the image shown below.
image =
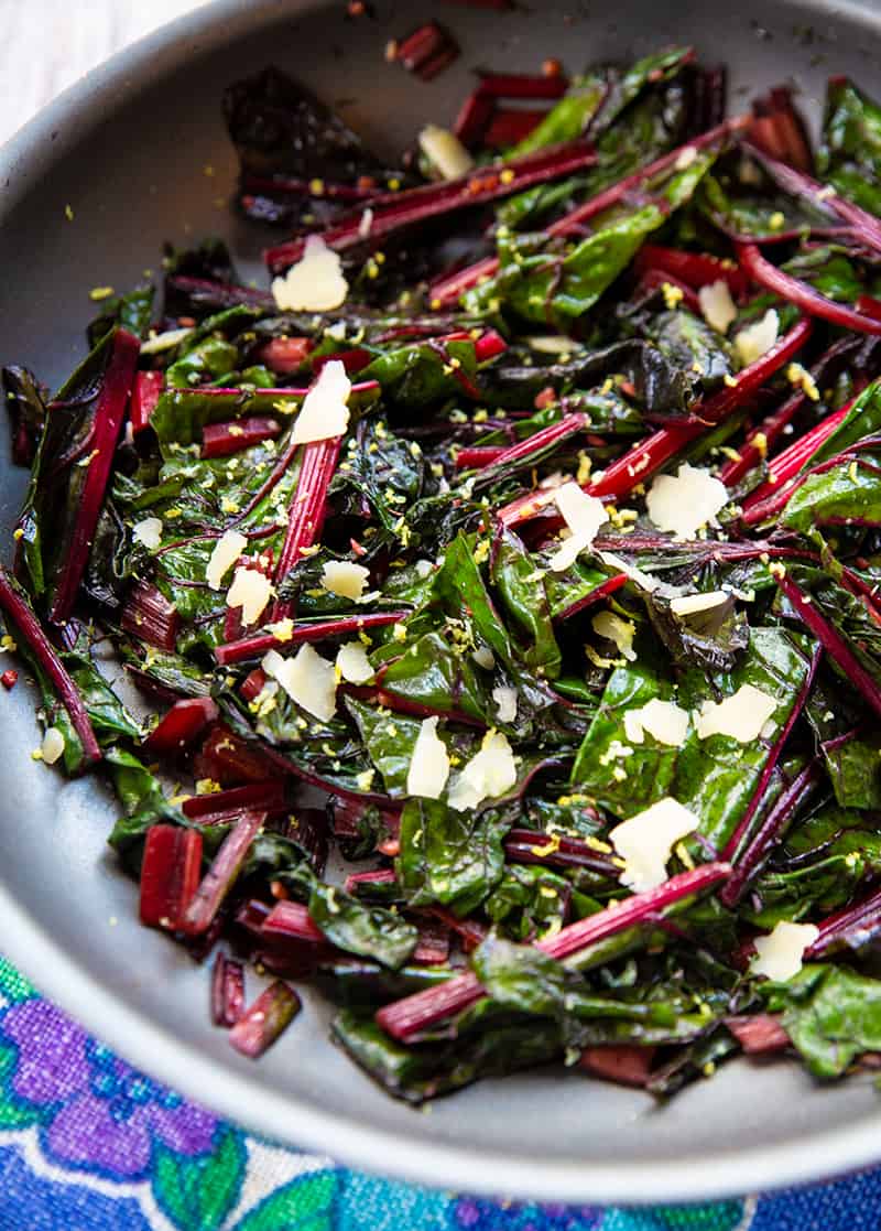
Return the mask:
POLYGON ((117 329, 101 393, 95 406, 91 460, 76 503, 64 567, 49 609, 49 619, 53 624, 62 624, 70 616, 76 602, 80 581, 95 538, 95 527, 101 515, 107 480, 113 467, 113 453, 134 384, 139 353, 140 342, 138 339, 124 329, 117 329))

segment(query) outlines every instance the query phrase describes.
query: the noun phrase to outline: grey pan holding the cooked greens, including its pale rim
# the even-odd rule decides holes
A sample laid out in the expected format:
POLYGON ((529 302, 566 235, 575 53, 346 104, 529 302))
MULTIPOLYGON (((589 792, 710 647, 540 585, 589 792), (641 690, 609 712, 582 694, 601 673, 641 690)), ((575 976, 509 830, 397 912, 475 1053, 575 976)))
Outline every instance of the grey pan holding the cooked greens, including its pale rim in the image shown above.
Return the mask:
MULTIPOLYGON (((534 70, 557 55, 577 68, 689 41, 731 65, 735 105, 790 75, 815 114, 829 73, 881 92, 876 0, 536 0, 502 15, 443 6, 463 57, 431 85, 386 65, 381 49, 438 5, 377 9, 375 22, 346 21, 343 0, 225 0, 117 55, 28 124, 0 153, 0 362, 58 382, 82 351, 87 289, 134 282, 165 239, 220 233, 246 272, 261 273, 262 236, 217 203, 235 175, 219 98, 269 60, 390 150, 425 121, 449 122, 481 63, 534 70)), ((23 475, 5 439, 1 453, 9 529, 23 475)), ((295 1027, 252 1065, 209 1025, 207 971, 138 926, 134 886, 105 849, 112 801, 92 782, 64 784, 36 766, 36 742, 33 693, 20 687, 4 697, 0 725, 0 947, 128 1060, 252 1129, 413 1181, 552 1200, 743 1193, 881 1157, 871 1083, 819 1088, 785 1062, 732 1064, 664 1108, 543 1070, 421 1114, 327 1041, 327 1009, 310 992, 295 1027)))

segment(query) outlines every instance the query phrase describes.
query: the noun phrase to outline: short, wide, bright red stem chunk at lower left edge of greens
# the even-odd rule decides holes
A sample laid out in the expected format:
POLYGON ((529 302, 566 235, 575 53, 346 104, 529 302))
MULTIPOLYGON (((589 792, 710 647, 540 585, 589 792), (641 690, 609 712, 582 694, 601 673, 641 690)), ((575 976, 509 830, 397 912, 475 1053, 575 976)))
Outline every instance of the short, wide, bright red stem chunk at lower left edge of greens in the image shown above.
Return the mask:
POLYGON ((140 864, 140 922, 176 932, 183 924, 202 870, 202 835, 178 825, 146 831, 140 864))

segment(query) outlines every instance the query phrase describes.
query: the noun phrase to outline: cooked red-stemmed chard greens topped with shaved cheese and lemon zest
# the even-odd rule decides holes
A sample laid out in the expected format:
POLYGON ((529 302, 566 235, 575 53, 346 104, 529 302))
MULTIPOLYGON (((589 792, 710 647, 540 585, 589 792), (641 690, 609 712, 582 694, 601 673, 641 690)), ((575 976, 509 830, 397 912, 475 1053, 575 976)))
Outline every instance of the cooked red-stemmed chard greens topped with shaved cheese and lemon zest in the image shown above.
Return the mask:
POLYGON ((223 106, 262 283, 169 247, 4 369, 2 649, 142 922, 244 1054, 311 985, 413 1103, 877 1065, 881 108, 551 60, 389 166, 277 69, 223 106))

